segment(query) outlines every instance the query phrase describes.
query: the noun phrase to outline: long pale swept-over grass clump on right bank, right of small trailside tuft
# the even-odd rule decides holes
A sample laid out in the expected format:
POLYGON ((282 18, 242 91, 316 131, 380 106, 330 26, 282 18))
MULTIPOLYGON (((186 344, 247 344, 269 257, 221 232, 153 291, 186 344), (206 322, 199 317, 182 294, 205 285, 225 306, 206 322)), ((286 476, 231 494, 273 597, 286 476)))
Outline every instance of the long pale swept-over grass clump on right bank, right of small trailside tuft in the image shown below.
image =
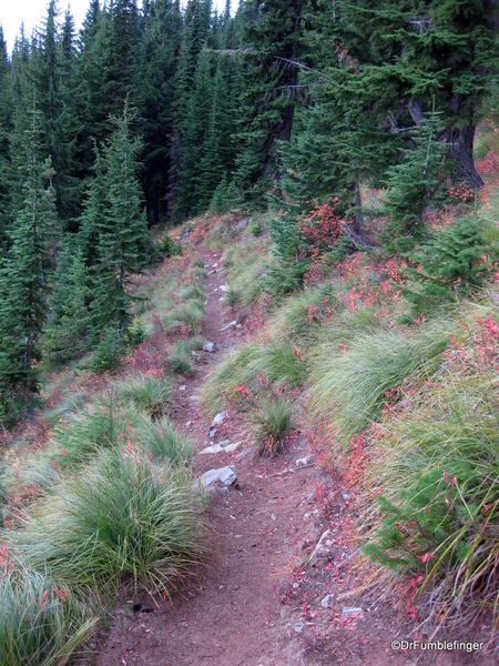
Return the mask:
POLYGON ((413 332, 381 329, 359 334, 347 351, 317 356, 309 376, 314 413, 348 440, 381 415, 391 392, 408 376, 416 371, 421 377, 431 374, 448 340, 449 331, 441 325, 413 332))

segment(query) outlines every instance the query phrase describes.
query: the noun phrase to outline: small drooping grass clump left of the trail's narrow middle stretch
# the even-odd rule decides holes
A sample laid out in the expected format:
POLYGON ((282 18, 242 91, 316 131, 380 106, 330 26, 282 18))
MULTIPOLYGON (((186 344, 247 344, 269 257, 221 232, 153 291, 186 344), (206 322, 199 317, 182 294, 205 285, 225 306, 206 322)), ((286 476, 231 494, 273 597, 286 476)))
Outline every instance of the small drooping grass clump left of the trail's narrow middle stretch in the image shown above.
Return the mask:
POLYGON ((120 404, 132 405, 138 412, 157 416, 170 403, 174 389, 170 377, 139 373, 116 385, 120 404))

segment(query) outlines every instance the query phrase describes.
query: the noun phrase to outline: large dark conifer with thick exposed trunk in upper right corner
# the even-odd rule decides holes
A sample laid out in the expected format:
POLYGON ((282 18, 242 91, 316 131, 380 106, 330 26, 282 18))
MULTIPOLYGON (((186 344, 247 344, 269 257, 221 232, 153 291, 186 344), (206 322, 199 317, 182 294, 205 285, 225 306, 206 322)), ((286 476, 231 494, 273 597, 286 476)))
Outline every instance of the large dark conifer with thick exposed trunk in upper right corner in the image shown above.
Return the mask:
POLYGON ((499 65, 498 13, 487 0, 336 2, 333 37, 359 62, 345 95, 366 100, 395 133, 421 127, 435 97, 454 175, 472 188, 482 185, 472 144, 487 78, 499 65))

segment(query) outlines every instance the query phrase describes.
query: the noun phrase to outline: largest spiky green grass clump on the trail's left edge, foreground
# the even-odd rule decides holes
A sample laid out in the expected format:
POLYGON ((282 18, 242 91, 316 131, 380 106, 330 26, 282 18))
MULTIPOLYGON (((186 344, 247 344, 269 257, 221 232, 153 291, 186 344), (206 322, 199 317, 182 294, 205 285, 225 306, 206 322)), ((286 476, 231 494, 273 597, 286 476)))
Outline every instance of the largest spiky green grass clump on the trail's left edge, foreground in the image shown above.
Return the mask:
POLYGON ((1 537, 33 568, 77 587, 167 595, 205 555, 202 507, 185 471, 157 466, 132 446, 101 453, 1 537))

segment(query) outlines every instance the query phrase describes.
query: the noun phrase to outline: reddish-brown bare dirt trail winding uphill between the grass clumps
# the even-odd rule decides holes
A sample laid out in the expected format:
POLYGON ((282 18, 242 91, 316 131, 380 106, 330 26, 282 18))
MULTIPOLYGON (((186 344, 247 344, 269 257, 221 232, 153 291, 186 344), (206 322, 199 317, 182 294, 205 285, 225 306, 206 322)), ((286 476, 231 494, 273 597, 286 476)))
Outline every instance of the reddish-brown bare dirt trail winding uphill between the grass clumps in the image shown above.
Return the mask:
MULTIPOLYGON (((192 375, 175 391, 171 417, 208 444, 210 420, 196 396, 210 369, 248 334, 244 323, 221 329, 235 319, 223 304, 221 254, 197 248, 205 262, 207 300, 202 335, 218 352, 200 353, 192 375)), ((214 416, 214 415, 212 415, 214 416)), ((409 627, 393 598, 355 597, 361 584, 352 568, 355 551, 347 534, 347 508, 335 480, 310 462, 302 434, 274 458, 245 455, 251 440, 244 428, 224 423, 222 438, 242 442, 232 453, 200 455, 196 470, 235 464, 240 487, 214 495, 208 508, 212 558, 172 604, 144 594, 122 599, 98 666, 305 666, 319 664, 488 665, 489 655, 454 652, 395 652, 394 639, 408 638, 409 627), (328 496, 325 505, 322 497, 328 496), (330 529, 326 554, 308 561, 322 534, 330 529), (329 597, 324 606, 323 599, 329 597), (338 598, 339 597, 339 598, 338 598), (151 606, 134 613, 132 602, 151 606), (363 617, 344 619, 345 606, 363 608, 363 617)), ((210 441, 210 444, 214 443, 210 441)), ((408 638, 410 640, 410 638, 408 638)))

